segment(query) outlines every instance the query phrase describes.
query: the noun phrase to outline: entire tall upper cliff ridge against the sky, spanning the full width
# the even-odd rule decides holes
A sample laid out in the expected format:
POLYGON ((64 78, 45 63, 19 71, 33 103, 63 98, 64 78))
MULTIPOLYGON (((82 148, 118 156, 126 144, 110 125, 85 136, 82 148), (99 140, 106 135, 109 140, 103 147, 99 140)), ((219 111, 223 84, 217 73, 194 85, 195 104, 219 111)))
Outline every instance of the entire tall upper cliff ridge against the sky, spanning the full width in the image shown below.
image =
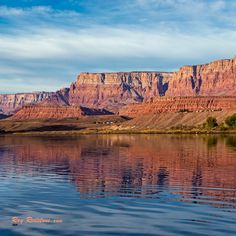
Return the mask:
POLYGON ((70 88, 57 92, 0 95, 0 109, 12 114, 26 104, 47 100, 49 105, 52 102, 118 112, 124 105, 162 96, 236 96, 236 57, 183 66, 173 73, 81 73, 70 88))

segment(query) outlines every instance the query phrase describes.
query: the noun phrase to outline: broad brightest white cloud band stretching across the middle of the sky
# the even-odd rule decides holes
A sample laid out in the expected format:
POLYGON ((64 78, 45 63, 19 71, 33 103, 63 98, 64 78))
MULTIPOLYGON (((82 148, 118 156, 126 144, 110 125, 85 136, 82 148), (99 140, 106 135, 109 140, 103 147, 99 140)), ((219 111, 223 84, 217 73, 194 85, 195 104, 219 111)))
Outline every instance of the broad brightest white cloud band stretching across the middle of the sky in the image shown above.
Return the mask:
POLYGON ((0 37, 2 59, 65 58, 201 58, 206 54, 231 55, 236 32, 189 35, 163 29, 96 27, 70 31, 39 29, 30 34, 0 37), (225 43, 227 40, 227 43, 225 43))

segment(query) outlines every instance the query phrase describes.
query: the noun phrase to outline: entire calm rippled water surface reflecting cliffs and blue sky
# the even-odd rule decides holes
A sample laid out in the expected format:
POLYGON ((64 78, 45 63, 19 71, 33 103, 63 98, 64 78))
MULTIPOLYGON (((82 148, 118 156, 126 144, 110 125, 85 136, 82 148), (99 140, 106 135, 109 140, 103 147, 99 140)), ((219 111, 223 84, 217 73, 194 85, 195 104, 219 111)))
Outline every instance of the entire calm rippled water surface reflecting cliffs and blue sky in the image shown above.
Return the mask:
POLYGON ((236 235, 236 136, 0 137, 0 211, 1 236, 236 235))

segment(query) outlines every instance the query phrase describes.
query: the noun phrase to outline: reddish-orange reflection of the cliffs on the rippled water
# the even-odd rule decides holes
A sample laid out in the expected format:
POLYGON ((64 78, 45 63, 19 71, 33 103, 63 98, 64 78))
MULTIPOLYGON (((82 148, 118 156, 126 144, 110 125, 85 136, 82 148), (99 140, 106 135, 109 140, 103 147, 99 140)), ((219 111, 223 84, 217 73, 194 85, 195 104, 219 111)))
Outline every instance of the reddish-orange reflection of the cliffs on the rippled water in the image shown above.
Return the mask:
POLYGON ((0 143, 0 164, 69 176, 82 194, 146 196, 181 186, 176 193, 186 200, 235 201, 234 136, 1 137, 0 143))

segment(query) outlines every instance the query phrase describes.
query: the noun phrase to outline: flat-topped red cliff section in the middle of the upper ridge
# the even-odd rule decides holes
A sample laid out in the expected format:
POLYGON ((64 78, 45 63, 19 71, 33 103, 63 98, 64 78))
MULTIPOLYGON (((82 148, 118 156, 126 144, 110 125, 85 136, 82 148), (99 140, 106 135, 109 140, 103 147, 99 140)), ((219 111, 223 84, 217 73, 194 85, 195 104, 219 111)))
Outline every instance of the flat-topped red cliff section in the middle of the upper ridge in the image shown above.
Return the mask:
POLYGON ((172 73, 81 73, 70 87, 69 103, 116 110, 122 105, 163 96, 172 73))

